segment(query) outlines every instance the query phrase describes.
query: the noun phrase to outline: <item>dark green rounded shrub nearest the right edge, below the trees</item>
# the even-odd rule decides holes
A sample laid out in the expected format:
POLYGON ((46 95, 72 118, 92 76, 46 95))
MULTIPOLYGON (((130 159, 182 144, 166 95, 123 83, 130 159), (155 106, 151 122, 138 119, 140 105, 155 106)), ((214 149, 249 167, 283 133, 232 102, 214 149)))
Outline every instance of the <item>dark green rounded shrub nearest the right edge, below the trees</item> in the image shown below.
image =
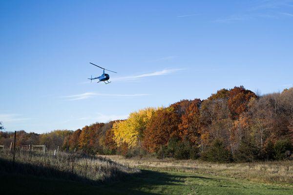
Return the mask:
POLYGON ((281 139, 276 141, 274 145, 275 159, 283 160, 291 155, 292 143, 289 139, 281 139))

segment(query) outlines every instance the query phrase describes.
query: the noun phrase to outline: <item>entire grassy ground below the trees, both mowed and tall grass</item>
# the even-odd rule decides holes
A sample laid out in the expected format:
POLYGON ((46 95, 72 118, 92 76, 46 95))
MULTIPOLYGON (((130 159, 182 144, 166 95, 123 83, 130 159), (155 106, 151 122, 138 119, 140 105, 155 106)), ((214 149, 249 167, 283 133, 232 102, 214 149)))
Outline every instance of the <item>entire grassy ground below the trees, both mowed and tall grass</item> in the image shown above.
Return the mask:
POLYGON ((13 166, 9 155, 3 157, 2 154, 0 158, 0 192, 3 195, 293 195, 292 175, 285 176, 286 173, 291 174, 290 162, 267 162, 260 166, 257 163, 210 164, 108 156, 118 162, 115 164, 105 156, 61 153, 58 158, 49 153, 23 153, 16 156, 18 159, 13 166), (74 167, 68 161, 72 157, 75 159, 74 167), (100 170, 101 165, 106 169, 100 170), (134 166, 140 167, 141 171, 131 168, 134 166), (124 174, 117 175, 111 170, 124 174), (274 175, 273 170, 276 172, 274 175), (256 176, 257 171, 259 176, 256 176), (107 172, 106 175, 111 175, 112 179, 104 177, 107 172), (235 175, 232 174, 234 172, 235 175), (243 172, 251 174, 251 177, 243 179, 246 176, 243 172), (264 174, 276 176, 278 182, 263 182, 268 178, 264 174), (254 181, 256 178, 260 179, 254 181))

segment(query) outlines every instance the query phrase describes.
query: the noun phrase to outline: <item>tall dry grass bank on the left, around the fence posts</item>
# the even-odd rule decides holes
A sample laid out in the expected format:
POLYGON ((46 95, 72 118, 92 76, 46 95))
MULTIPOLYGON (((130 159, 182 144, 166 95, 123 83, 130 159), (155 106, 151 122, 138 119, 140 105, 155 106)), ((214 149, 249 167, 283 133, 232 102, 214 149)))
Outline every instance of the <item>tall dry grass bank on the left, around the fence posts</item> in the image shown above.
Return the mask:
POLYGON ((86 156, 77 153, 21 151, 13 153, 0 151, 0 171, 23 175, 63 178, 87 182, 106 182, 119 180, 130 174, 140 173, 139 169, 130 168, 101 156, 86 156))

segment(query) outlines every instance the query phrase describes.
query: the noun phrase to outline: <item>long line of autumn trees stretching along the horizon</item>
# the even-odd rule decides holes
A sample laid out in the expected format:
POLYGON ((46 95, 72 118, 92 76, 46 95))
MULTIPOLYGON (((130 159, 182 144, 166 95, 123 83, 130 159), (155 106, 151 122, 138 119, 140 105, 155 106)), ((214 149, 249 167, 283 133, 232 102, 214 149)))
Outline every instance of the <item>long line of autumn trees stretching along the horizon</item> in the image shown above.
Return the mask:
MULTIPOLYGON (((0 134, 0 144, 12 136, 0 134)), ((205 100, 133 112, 126 120, 82 130, 33 133, 24 144, 62 145, 90 154, 232 162, 293 158, 293 88, 257 96, 243 86, 221 89, 205 100)))

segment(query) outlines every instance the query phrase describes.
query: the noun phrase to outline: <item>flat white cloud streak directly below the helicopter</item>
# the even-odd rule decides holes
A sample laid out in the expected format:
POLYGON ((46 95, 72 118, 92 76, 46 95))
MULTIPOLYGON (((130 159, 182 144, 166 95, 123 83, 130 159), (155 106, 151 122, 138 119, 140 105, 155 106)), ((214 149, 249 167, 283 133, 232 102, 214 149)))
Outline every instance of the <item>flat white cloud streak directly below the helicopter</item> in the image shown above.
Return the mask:
POLYGON ((71 95, 71 96, 63 96, 61 98, 65 98, 68 101, 75 101, 81 99, 88 99, 98 96, 107 96, 107 97, 139 97, 139 96, 149 96, 149 94, 99 94, 94 92, 87 92, 83 94, 71 95))

